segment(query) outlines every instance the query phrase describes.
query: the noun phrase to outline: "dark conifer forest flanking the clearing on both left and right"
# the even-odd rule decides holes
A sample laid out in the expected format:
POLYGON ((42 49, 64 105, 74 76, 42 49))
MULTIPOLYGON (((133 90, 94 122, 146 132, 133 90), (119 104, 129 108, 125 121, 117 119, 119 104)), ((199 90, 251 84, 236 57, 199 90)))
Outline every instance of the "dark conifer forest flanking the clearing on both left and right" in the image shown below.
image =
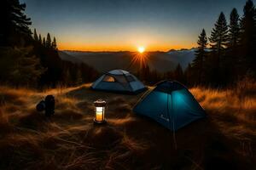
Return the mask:
MULTIPOLYGON (((3 25, 0 30, 0 80, 14 87, 31 88, 74 86, 93 82, 99 76, 90 65, 73 64, 58 55, 56 38, 48 33, 38 34, 30 26, 25 14, 26 4, 18 0, 4 0, 1 6, 3 25)), ((245 77, 255 80, 256 9, 248 0, 240 16, 230 12, 229 20, 223 12, 218 16, 211 35, 202 29, 195 51, 195 59, 183 70, 160 73, 145 64, 134 74, 152 85, 164 79, 177 80, 193 87, 229 87, 245 77)))

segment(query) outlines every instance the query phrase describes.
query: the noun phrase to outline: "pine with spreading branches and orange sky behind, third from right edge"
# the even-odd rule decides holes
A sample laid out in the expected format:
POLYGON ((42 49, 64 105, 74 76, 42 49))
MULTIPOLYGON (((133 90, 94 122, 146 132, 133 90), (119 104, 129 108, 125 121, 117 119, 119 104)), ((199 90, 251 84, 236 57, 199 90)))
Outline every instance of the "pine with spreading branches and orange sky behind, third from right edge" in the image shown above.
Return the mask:
POLYGON ((214 28, 211 32, 210 42, 212 50, 216 51, 218 58, 221 55, 222 50, 226 47, 228 42, 228 26, 227 21, 223 12, 219 14, 218 20, 216 21, 214 28))

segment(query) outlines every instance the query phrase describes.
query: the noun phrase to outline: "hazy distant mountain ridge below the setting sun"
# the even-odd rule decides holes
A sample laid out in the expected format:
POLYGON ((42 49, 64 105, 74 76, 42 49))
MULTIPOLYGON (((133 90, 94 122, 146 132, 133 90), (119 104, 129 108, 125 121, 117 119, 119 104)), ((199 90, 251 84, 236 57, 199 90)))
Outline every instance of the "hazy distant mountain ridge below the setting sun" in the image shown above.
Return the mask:
MULTIPOLYGON (((191 49, 171 49, 168 52, 148 52, 148 65, 151 70, 160 72, 172 71, 177 64, 182 65, 183 70, 195 59, 196 48, 191 49)), ((131 59, 137 52, 84 52, 84 51, 59 51, 61 59, 72 61, 73 63, 84 62, 93 66, 98 71, 109 71, 113 69, 125 69, 137 71, 137 65, 130 65, 131 59)))

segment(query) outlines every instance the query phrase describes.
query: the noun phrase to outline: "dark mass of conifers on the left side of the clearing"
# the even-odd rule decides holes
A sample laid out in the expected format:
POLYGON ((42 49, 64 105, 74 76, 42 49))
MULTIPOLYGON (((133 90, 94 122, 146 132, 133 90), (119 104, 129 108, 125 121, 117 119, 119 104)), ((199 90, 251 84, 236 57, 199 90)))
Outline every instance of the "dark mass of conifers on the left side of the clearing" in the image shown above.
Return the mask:
POLYGON ((97 71, 86 65, 62 60, 56 38, 33 33, 30 18, 24 14, 25 3, 3 0, 0 7, 0 82, 34 88, 75 85, 91 82, 97 71))

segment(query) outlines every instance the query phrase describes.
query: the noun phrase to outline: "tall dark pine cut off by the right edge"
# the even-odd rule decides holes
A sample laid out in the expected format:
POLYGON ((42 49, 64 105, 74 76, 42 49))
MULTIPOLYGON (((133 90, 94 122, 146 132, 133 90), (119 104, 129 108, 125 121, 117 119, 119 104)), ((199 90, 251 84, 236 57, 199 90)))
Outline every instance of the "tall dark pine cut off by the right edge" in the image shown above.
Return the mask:
POLYGON ((245 71, 255 74, 256 63, 256 9, 253 1, 247 0, 241 18, 241 65, 245 71))

